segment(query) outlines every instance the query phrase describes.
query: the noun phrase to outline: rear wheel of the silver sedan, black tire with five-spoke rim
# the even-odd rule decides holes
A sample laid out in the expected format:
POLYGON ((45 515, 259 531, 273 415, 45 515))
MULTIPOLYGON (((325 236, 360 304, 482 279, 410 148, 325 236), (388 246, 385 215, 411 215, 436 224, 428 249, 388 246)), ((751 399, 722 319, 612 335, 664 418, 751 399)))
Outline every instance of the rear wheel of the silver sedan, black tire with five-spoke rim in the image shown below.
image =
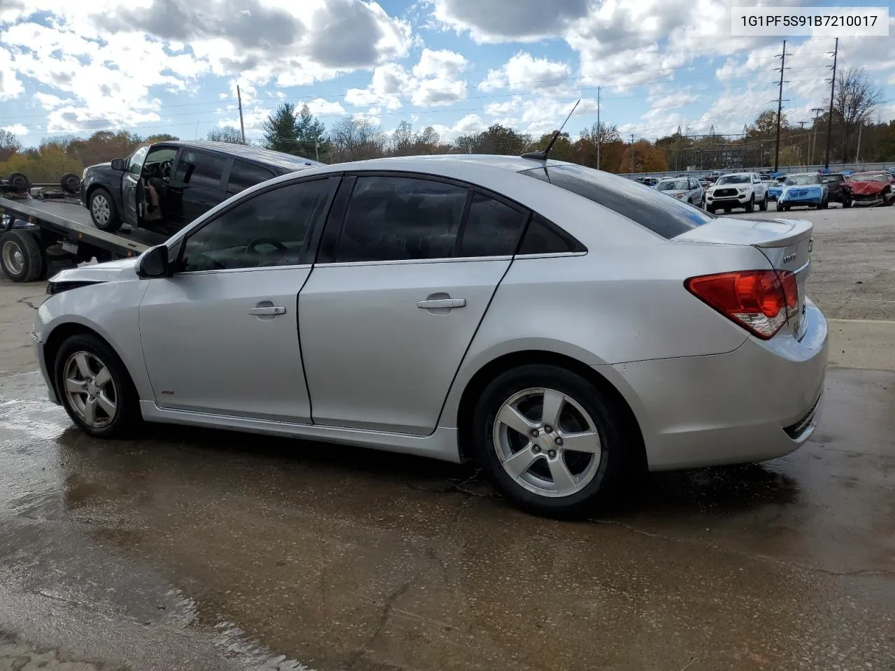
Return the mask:
POLYGON ((556 366, 528 364, 503 373, 482 392, 473 413, 473 445, 489 480, 508 501, 536 515, 578 517, 608 497, 625 470, 625 447, 631 441, 626 439, 623 418, 618 403, 586 379, 556 366), (541 423, 545 390, 565 399, 558 403, 559 427, 541 423), (498 420, 507 406, 517 408, 511 417, 526 412, 537 418, 516 420, 517 427, 529 431, 527 435, 498 420), (534 429, 540 431, 537 443, 532 441, 534 429), (594 437, 581 445, 591 453, 555 442, 564 434, 585 430, 594 437), (506 465, 512 457, 524 462, 516 477, 506 465), (553 473, 570 477, 567 485, 558 485, 553 473), (567 494, 556 493, 564 488, 567 494))

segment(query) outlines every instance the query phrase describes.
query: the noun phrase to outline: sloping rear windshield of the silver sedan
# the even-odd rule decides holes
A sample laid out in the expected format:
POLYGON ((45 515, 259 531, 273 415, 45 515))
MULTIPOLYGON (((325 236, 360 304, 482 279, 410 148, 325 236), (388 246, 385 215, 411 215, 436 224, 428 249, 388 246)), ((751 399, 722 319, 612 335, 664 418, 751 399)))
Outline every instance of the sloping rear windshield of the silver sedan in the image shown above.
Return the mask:
POLYGON ((584 166, 536 167, 520 174, 584 196, 668 240, 715 218, 643 184, 584 166))

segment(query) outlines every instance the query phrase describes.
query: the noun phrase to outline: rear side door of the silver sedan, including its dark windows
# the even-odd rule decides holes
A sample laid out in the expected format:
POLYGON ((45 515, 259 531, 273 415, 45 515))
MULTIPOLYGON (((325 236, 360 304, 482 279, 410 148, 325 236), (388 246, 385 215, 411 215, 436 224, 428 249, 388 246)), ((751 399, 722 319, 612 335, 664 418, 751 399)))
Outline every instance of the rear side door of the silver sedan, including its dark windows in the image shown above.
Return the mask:
POLYGON ((389 174, 345 178, 333 210, 298 302, 313 421, 429 435, 527 215, 389 174))

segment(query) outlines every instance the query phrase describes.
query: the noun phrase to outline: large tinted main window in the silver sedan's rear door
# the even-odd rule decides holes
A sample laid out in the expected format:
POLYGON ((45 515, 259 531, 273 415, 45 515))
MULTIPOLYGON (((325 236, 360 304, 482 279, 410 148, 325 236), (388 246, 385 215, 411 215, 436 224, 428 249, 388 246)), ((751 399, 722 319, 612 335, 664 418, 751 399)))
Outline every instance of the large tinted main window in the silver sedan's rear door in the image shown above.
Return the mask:
POLYGON ((334 261, 452 257, 467 193, 413 177, 358 177, 334 261))

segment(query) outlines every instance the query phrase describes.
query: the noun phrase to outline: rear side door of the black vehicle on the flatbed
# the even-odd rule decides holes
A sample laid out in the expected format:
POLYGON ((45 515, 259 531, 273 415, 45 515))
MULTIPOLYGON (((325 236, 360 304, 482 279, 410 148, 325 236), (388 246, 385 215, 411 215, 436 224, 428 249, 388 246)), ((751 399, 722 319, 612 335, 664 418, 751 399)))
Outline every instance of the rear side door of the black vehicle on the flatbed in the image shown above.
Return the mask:
POLYGON ((221 154, 183 148, 168 184, 172 198, 180 203, 182 218, 174 222, 178 228, 226 200, 224 175, 229 172, 232 162, 233 158, 221 154))

